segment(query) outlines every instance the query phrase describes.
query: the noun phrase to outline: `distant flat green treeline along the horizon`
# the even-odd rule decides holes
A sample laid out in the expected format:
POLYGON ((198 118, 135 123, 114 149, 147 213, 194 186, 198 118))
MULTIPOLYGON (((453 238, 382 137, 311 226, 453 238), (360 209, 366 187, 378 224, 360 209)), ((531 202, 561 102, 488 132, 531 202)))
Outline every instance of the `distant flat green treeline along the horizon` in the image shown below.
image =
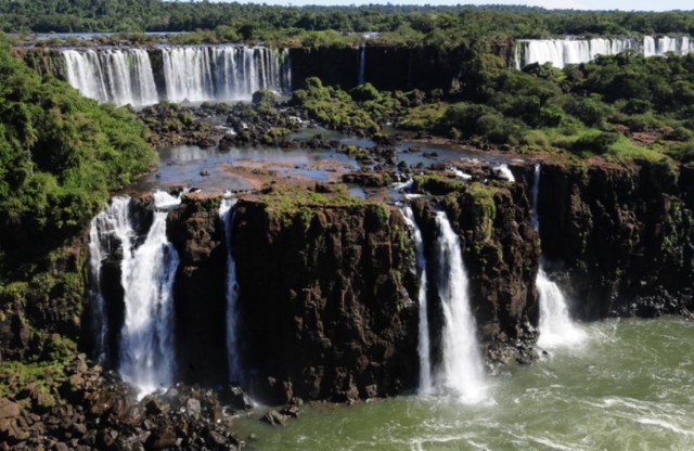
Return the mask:
POLYGON ((224 40, 309 44, 332 44, 345 34, 376 31, 383 34, 382 39, 386 41, 457 44, 480 37, 694 34, 694 11, 579 12, 502 5, 391 4, 292 8, 208 1, 0 0, 0 27, 7 33, 215 30, 214 36, 224 40))

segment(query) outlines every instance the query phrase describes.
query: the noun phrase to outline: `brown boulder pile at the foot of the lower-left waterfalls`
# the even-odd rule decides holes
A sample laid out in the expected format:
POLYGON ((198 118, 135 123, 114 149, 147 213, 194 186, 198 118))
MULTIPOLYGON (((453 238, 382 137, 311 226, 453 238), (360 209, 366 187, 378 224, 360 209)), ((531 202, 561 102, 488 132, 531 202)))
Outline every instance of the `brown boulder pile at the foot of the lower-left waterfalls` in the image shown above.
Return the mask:
POLYGON ((237 450, 232 414, 249 409, 234 386, 178 384, 138 400, 117 374, 78 356, 65 377, 0 398, 0 450, 237 450))

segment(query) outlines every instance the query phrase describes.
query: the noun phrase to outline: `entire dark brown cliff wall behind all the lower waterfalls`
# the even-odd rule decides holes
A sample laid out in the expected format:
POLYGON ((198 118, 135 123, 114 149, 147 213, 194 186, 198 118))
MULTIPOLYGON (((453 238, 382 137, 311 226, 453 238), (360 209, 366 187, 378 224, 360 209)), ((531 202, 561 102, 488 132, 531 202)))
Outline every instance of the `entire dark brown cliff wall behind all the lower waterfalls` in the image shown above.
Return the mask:
MULTIPOLYGON (((558 278, 575 317, 654 317, 694 308, 694 169, 648 162, 544 164, 541 240, 532 230, 528 201, 532 166, 514 171, 518 183, 461 183, 440 175, 419 185, 415 180, 415 189, 438 194, 411 201, 427 257, 435 368, 442 325, 434 275, 437 209, 446 210, 461 239, 478 335, 492 362, 514 357, 506 351, 534 336, 540 247, 544 268, 558 278)), ((401 214, 354 198, 333 202, 310 190, 285 194, 246 195, 235 207, 241 382, 259 400, 278 403, 294 396, 348 400, 414 389, 419 278, 401 214), (297 196, 304 197, 297 203, 297 196)), ((132 208, 142 219, 138 234, 144 236, 149 204, 132 208)), ((177 381, 228 381, 227 248, 218 210, 219 198, 189 195, 167 222, 180 257, 177 381)), ((116 250, 102 263, 101 279, 110 322, 107 358, 114 368, 124 318, 120 258, 116 250)), ((3 358, 48 356, 59 336, 89 347, 90 310, 79 298, 89 291, 79 276, 83 252, 56 256, 54 267, 57 275, 46 287, 43 280, 3 287, 3 358)), ((520 347, 515 357, 525 360, 526 350, 520 347)))

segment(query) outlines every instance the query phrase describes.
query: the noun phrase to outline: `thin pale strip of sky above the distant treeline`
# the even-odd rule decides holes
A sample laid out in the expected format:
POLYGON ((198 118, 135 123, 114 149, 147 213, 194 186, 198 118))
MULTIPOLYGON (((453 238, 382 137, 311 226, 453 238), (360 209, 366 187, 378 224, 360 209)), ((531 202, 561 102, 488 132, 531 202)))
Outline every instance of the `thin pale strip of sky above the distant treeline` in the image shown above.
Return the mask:
MULTIPOLYGON (((529 7, 542 7, 548 9, 574 9, 574 10, 622 10, 622 11, 669 11, 694 10, 693 0, 390 0, 393 4, 525 4, 529 7)), ((383 0, 265 0, 240 1, 240 3, 267 3, 299 7, 304 4, 369 4, 388 3, 383 0)))

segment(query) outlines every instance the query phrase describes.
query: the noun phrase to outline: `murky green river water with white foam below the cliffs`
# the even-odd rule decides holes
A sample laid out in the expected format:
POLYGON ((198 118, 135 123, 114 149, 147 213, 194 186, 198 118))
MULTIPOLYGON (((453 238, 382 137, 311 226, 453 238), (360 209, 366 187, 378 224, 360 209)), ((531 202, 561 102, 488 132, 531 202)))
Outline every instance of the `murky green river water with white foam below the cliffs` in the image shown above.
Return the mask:
POLYGON ((609 320, 583 328, 580 349, 488 377, 488 398, 476 405, 411 396, 305 407, 284 428, 256 414, 234 429, 256 435, 246 440, 252 450, 694 449, 694 323, 609 320))

